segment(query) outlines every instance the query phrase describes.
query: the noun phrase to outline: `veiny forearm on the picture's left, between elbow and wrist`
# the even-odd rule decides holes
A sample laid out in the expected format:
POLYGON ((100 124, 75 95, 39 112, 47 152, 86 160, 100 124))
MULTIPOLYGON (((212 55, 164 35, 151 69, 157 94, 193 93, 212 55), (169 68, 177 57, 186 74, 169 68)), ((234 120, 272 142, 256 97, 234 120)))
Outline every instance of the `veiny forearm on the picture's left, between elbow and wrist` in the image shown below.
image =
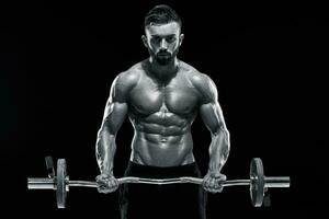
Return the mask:
POLYGON ((116 151, 115 135, 101 128, 98 132, 95 151, 101 173, 113 175, 113 161, 116 151))

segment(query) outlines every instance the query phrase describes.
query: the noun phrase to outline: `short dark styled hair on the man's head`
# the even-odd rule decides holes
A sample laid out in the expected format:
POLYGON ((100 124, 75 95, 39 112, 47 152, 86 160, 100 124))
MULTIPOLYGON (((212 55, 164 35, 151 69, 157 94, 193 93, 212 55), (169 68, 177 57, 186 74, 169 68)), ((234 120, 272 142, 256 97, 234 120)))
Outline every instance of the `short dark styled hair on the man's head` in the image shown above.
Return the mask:
POLYGON ((179 14, 167 4, 158 4, 145 15, 144 27, 146 28, 154 24, 168 24, 170 22, 177 22, 182 30, 182 21, 179 14))

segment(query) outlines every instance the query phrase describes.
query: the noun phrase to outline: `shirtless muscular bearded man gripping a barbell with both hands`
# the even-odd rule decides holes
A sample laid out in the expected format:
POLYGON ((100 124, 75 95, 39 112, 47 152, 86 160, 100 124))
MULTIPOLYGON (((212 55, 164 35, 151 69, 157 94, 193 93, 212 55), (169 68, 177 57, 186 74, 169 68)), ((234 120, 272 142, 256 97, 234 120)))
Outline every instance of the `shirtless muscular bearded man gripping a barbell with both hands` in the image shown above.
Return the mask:
POLYGON ((113 175, 115 137, 127 116, 134 127, 134 138, 125 176, 202 177, 191 135, 197 113, 212 134, 208 171, 202 186, 121 185, 123 219, 205 218, 204 191, 222 192, 226 180, 220 170, 229 154, 229 132, 216 85, 206 74, 177 58, 184 38, 181 26, 179 15, 168 5, 157 5, 145 16, 141 38, 150 56, 120 73, 112 83, 97 139, 101 171, 97 177, 98 189, 111 193, 118 188, 113 175))

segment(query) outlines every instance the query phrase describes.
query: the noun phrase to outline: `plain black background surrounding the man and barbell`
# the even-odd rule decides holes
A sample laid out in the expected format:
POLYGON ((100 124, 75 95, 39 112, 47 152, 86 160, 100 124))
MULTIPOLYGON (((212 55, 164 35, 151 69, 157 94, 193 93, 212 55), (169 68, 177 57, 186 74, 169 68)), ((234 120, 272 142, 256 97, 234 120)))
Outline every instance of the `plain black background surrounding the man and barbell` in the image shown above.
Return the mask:
MULTIPOLYGON (((209 218, 316 217, 328 208, 326 147, 328 14, 320 4, 211 1, 33 1, 0 4, 1 210, 29 217, 117 218, 117 193, 71 188, 67 209, 53 191, 27 191, 44 177, 45 155, 65 158, 71 180, 99 173, 94 143, 114 77, 148 54, 143 19, 159 2, 182 16, 179 58, 207 73, 231 134, 223 172, 247 178, 260 157, 265 175, 290 175, 271 189, 272 207, 253 208, 246 187, 208 199, 209 218)), ((133 128, 117 136, 123 174, 133 128)), ((195 157, 205 173, 209 132, 197 117, 195 157)), ((141 200, 143 201, 143 197, 141 200)), ((326 212, 325 212, 326 214, 326 212)))

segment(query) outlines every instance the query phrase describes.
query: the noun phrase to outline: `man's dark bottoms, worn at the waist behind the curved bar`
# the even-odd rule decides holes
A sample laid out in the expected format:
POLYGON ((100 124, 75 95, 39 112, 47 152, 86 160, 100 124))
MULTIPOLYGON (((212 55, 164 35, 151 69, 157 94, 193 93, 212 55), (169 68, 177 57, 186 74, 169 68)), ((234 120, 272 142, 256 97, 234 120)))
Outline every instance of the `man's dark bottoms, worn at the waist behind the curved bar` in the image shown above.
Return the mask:
MULTIPOLYGON (((129 162, 125 176, 171 178, 202 177, 196 163, 156 168, 129 162)), ((123 184, 120 187, 122 219, 205 219, 206 192, 201 185, 123 184)))

